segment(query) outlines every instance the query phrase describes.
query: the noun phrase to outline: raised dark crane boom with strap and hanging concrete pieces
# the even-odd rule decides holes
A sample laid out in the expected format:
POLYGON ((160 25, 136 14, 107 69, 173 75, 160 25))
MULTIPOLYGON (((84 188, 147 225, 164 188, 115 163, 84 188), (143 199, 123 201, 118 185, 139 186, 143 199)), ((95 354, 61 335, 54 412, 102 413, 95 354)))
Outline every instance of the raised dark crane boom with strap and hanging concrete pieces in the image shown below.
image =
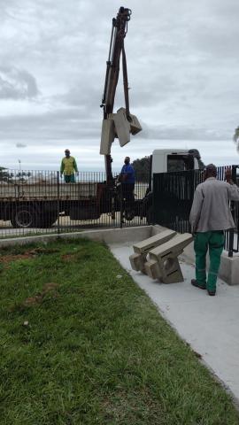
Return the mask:
POLYGON ((100 153, 104 155, 106 180, 108 183, 113 182, 111 146, 114 137, 118 137, 120 145, 124 146, 130 140, 129 133, 136 134, 142 129, 136 117, 129 112, 127 61, 124 39, 127 35, 127 22, 130 19, 131 13, 130 9, 120 7, 117 17, 112 19, 112 36, 109 57, 106 62, 104 94, 101 104, 104 110, 104 120, 100 153), (121 53, 126 108, 120 108, 117 113, 113 113, 115 92, 120 73, 121 53))

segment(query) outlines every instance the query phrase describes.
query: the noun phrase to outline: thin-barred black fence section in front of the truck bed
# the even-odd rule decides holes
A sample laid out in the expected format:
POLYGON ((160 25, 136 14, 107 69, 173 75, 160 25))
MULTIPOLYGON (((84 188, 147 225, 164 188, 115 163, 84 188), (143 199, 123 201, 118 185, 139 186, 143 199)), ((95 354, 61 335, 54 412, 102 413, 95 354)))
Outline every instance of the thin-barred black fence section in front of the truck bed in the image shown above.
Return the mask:
POLYGON ((135 188, 114 175, 82 172, 74 182, 50 171, 0 171, 0 238, 124 228, 146 224, 143 197, 149 174, 135 188))

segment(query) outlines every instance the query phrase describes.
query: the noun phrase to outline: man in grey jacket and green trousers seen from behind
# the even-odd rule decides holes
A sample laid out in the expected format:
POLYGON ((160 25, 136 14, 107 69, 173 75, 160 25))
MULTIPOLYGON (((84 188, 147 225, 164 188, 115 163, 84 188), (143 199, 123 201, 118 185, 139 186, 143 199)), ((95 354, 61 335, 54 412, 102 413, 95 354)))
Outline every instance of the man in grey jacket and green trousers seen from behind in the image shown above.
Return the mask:
POLYGON ((216 293, 220 256, 224 246, 224 230, 235 228, 229 201, 239 200, 239 188, 232 181, 231 170, 227 168, 227 182, 217 180, 217 168, 213 164, 205 167, 204 182, 198 184, 190 212, 192 234, 195 236, 196 279, 193 286, 216 293), (206 279, 206 253, 209 250, 210 267, 206 279))

